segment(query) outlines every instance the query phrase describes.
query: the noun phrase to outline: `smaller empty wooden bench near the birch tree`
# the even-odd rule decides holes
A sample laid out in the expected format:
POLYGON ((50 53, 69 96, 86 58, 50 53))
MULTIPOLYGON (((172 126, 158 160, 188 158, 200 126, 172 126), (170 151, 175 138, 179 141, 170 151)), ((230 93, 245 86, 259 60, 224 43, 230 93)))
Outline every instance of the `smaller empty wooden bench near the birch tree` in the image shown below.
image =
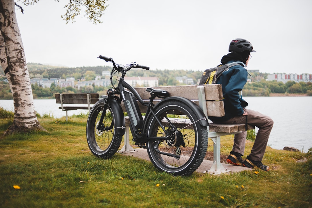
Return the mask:
POLYGON ((60 103, 59 109, 66 111, 66 121, 68 120, 67 111, 92 108, 91 104, 95 104, 99 100, 97 93, 70 93, 70 94, 55 94, 56 103, 60 103), (75 106, 65 106, 64 104, 79 104, 75 106), (87 104, 87 105, 86 105, 87 104))

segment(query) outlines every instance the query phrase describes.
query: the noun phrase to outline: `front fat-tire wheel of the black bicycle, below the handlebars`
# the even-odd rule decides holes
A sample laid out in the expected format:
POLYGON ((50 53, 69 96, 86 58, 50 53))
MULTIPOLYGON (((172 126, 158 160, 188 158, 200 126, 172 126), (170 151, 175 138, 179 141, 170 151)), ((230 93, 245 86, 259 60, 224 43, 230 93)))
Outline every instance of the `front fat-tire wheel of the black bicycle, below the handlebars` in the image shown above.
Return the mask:
POLYGON ((118 150, 122 134, 115 131, 116 116, 114 110, 108 106, 102 124, 100 118, 103 113, 105 100, 99 100, 92 107, 87 120, 87 142, 91 152, 101 158, 110 158, 118 150))

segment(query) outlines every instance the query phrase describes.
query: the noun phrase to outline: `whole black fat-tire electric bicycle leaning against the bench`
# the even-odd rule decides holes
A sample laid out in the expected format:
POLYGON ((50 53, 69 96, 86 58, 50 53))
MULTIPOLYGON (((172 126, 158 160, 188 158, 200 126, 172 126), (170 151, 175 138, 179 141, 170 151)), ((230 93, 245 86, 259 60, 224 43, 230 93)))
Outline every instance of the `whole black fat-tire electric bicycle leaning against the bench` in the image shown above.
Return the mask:
MULTIPOLYGON (((183 97, 168 97, 169 92, 147 88, 149 101, 144 101, 136 90, 124 81, 131 68, 149 67, 135 62, 116 64, 112 58, 99 56, 114 67, 110 81, 113 88, 101 96, 92 107, 86 126, 90 151, 97 157, 110 158, 117 152, 125 133, 125 120, 121 102, 130 119, 130 130, 136 145, 146 148, 153 165, 173 175, 190 175, 202 163, 208 145, 208 121, 202 110, 183 97), (117 87, 112 77, 121 73, 117 87), (162 100, 154 104, 154 99, 162 100), (147 107, 143 118, 137 100, 147 107)), ((117 78, 116 78, 117 80, 117 78)))

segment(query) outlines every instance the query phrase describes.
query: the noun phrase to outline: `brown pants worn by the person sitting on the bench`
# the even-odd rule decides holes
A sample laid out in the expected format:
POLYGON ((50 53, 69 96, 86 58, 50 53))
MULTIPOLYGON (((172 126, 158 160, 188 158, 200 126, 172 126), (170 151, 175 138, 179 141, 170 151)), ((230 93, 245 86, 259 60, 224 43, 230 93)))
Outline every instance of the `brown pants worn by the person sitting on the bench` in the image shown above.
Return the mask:
MULTIPOLYGON (((268 139, 273 127, 273 120, 263 115, 257 111, 244 109, 247 113, 247 123, 250 125, 254 125, 259 128, 256 140, 251 149, 251 153, 249 157, 251 160, 262 161, 264 153, 266 151, 266 145, 268 143, 268 139)), ((229 119, 225 122, 218 122, 222 124, 245 124, 246 116, 236 116, 232 119, 229 119)), ((247 131, 243 131, 241 133, 237 133, 234 136, 234 145, 232 151, 239 152, 244 155, 245 151, 245 143, 246 143, 246 135, 247 131)))

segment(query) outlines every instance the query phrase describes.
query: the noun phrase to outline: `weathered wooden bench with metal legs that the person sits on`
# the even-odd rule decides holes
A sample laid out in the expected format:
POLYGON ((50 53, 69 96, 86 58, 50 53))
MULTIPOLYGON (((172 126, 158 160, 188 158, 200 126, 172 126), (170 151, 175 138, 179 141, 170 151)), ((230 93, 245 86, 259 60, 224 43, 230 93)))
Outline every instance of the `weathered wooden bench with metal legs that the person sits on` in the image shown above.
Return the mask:
MULTIPOLYGON (((165 87, 153 87, 154 89, 167 90, 170 96, 181 96, 192 100, 196 103, 204 112, 206 116, 224 116, 223 94, 221 85, 184 85, 184 86, 165 86, 165 87)), ((135 88, 142 99, 149 99, 149 92, 144 88, 135 88)), ((122 103, 123 104, 123 103, 122 103)), ((123 111, 126 109, 122 105, 123 111)), ((146 106, 139 104, 141 112, 146 112, 146 106)), ((133 152, 134 149, 129 144, 129 117, 125 118, 126 133, 124 136, 124 147, 119 152, 133 152)), ((225 169, 220 162, 220 137, 230 134, 240 133, 245 131, 245 124, 216 124, 209 122, 207 130, 209 132, 208 138, 211 138, 213 142, 213 165, 208 171, 210 174, 220 174, 229 172, 225 169)), ((248 125, 247 129, 254 129, 254 126, 248 125)))

